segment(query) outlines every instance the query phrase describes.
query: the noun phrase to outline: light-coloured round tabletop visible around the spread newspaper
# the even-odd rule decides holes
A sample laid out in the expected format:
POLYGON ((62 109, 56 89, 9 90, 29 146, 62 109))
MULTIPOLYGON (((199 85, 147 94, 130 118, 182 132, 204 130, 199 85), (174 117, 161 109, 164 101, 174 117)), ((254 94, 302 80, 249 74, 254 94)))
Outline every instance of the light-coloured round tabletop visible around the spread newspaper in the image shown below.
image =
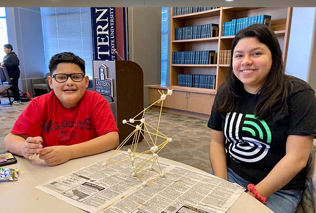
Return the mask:
MULTIPOLYGON (((86 212, 72 206, 58 198, 43 192, 35 186, 46 183, 52 179, 67 175, 83 166, 88 166, 105 160, 113 150, 79 159, 70 160, 64 164, 49 167, 40 160, 34 158, 29 161, 22 157, 16 157, 17 163, 5 166, 7 168, 24 169, 20 172, 17 181, 0 182, 0 212, 1 213, 22 213, 22 212, 86 212)), ((201 170, 169 159, 160 158, 162 162, 179 165, 194 171, 201 170)), ((207 172, 204 172, 207 173, 207 172)), ((272 212, 265 205, 255 198, 243 192, 228 212, 272 212)))

